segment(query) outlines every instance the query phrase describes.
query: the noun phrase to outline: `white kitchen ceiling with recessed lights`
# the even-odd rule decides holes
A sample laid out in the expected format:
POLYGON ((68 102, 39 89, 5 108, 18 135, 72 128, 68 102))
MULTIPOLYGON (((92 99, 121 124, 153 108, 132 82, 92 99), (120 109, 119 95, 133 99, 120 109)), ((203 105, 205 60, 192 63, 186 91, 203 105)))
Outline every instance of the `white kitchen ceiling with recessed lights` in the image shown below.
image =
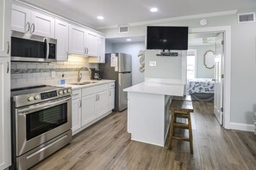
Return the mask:
POLYGON ((255 9, 255 0, 20 0, 88 27, 110 27, 184 15, 255 9), (156 13, 150 8, 157 7, 156 13), (103 15, 104 20, 97 20, 103 15))

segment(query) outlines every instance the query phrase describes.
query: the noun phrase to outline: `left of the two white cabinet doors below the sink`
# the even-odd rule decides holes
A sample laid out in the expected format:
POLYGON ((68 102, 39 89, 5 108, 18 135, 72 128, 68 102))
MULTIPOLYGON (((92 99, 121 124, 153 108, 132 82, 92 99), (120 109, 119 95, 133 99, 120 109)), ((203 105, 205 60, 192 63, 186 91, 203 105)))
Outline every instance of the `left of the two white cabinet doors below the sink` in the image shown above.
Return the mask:
POLYGON ((96 114, 96 94, 82 97, 82 126, 90 123, 96 114))

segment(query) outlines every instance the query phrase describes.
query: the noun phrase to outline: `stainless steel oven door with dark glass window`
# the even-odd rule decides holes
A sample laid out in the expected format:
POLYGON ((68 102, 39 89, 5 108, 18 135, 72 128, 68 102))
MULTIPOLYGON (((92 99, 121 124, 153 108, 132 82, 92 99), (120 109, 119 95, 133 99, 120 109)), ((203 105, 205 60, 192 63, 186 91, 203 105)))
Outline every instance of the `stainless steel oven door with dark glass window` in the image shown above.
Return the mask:
POLYGON ((71 97, 16 109, 16 156, 72 128, 71 97))

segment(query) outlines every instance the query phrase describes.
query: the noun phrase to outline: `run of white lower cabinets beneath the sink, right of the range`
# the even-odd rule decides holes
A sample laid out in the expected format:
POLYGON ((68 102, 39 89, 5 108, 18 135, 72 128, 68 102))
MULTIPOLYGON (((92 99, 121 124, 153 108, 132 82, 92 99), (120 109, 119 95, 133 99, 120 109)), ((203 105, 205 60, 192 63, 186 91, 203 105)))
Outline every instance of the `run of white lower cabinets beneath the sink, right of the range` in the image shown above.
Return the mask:
POLYGON ((115 97, 109 96, 109 90, 113 91, 113 89, 115 96, 115 88, 109 89, 112 83, 73 90, 72 135, 84 130, 112 111, 114 104, 109 106, 109 103, 115 103, 115 97))

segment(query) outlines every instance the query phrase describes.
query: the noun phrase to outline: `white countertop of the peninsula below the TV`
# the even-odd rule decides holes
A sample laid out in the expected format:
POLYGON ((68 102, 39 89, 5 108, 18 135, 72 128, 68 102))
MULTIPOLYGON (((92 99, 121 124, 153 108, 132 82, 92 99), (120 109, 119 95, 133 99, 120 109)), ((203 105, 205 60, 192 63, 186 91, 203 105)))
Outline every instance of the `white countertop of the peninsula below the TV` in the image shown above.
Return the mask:
POLYGON ((160 95, 184 95, 184 84, 167 84, 158 82, 141 82, 130 88, 125 88, 125 92, 160 95))

